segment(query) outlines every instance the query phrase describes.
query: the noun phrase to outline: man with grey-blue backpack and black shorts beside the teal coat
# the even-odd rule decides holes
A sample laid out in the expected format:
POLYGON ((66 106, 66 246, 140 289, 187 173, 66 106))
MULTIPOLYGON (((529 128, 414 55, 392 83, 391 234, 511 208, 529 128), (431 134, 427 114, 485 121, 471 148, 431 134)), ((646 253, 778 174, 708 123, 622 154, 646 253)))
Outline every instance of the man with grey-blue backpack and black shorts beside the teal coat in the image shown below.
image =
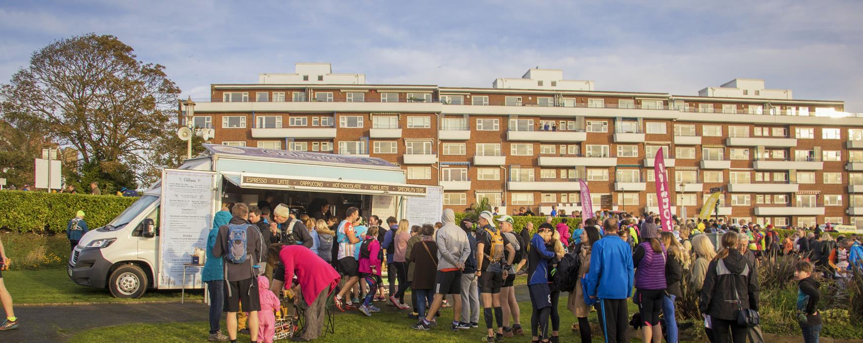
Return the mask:
POLYGON ((264 241, 261 230, 249 223, 249 207, 236 203, 231 209, 232 218, 227 225, 218 228, 213 256, 224 257, 225 305, 228 313, 228 338, 236 340, 236 313, 243 302, 243 311, 249 312, 249 334, 258 340, 258 311, 261 302, 258 298, 256 277, 264 271, 264 241))

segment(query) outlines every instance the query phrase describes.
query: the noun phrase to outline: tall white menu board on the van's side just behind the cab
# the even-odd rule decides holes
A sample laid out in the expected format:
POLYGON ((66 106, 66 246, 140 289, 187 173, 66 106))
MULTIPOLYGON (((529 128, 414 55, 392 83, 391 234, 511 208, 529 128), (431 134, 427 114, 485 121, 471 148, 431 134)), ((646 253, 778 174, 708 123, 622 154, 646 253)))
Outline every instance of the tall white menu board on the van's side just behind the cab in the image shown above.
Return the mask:
MULTIPOLYGON (((205 248, 213 222, 212 171, 162 171, 160 289, 183 287, 183 264, 192 263, 195 247, 205 248)), ((204 263, 201 261, 200 263, 204 263)), ((203 288, 201 268, 188 268, 186 288, 203 288)))

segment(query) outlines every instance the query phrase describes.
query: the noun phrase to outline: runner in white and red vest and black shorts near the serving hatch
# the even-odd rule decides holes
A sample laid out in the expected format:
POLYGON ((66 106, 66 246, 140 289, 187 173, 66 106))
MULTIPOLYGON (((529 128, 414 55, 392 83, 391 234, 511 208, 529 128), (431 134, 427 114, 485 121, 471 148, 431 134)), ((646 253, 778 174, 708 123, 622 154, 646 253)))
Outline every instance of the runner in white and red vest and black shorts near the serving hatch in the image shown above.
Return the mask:
POLYGON ((355 245, 360 242, 360 239, 356 238, 353 224, 353 222, 360 216, 360 209, 350 207, 345 211, 344 215, 345 218, 341 224, 338 224, 338 229, 336 231, 336 241, 338 243, 337 269, 347 277, 347 280, 342 286, 342 290, 338 291, 338 294, 334 299, 336 307, 340 311, 344 311, 345 309, 356 309, 356 306, 350 302, 350 299, 345 302, 343 300, 343 296, 354 287, 354 284, 360 281, 360 265, 356 262, 356 258, 354 257, 355 245))

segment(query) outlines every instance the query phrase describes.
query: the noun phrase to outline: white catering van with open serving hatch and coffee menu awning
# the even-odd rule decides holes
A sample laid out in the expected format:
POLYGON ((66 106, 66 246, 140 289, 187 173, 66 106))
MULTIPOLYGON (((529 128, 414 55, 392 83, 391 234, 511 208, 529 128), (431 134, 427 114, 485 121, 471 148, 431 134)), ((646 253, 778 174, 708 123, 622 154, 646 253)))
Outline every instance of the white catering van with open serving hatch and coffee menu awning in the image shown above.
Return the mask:
POLYGON ((195 247, 205 247, 213 215, 223 203, 252 206, 265 195, 274 197, 272 206, 286 203, 292 209, 307 209, 309 215, 318 210, 309 208, 312 203, 327 203, 328 214, 339 217, 353 206, 363 216, 382 219, 403 217, 408 208, 429 219, 440 218, 440 189, 406 184, 405 172, 383 159, 204 146, 200 157, 163 171, 161 180, 138 201, 108 225, 81 238, 69 258, 73 282, 107 287, 117 297, 139 297, 148 289, 184 285, 203 288, 198 268, 191 268, 185 281, 181 279, 182 264, 192 262, 195 247), (411 199, 416 200, 413 207, 411 199))

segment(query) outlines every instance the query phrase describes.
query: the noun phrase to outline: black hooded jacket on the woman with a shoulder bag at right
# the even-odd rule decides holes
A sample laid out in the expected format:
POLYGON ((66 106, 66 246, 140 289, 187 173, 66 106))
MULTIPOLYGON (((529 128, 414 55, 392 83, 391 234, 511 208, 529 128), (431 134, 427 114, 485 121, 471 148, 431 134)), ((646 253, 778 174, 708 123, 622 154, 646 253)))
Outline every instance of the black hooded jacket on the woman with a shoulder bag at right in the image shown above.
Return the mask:
POLYGON ((758 270, 733 249, 725 259, 711 261, 708 265, 698 308, 711 317, 736 321, 738 298, 742 309, 758 310, 758 270))

